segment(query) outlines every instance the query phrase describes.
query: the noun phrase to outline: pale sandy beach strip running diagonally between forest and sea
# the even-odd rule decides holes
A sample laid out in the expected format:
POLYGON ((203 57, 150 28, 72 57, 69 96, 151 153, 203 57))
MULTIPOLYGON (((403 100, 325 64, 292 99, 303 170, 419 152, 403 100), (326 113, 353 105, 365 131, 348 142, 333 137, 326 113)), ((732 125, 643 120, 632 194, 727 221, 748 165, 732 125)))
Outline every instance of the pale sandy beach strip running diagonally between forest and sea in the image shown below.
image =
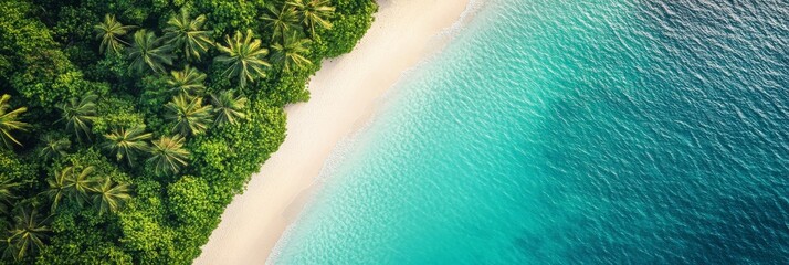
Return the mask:
POLYGON ((349 54, 324 62, 312 99, 287 112, 287 138, 222 214, 194 264, 263 264, 307 201, 337 142, 375 109, 403 71, 441 49, 469 0, 379 0, 372 28, 349 54))

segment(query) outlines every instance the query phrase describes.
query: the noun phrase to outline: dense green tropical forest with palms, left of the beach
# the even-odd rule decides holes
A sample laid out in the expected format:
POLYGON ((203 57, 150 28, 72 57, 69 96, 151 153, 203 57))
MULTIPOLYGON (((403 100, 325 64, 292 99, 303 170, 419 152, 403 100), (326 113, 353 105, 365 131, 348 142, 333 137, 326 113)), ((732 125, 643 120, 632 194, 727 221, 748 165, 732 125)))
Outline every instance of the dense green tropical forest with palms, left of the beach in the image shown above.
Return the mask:
POLYGON ((2 261, 188 264, 372 0, 0 0, 2 261))

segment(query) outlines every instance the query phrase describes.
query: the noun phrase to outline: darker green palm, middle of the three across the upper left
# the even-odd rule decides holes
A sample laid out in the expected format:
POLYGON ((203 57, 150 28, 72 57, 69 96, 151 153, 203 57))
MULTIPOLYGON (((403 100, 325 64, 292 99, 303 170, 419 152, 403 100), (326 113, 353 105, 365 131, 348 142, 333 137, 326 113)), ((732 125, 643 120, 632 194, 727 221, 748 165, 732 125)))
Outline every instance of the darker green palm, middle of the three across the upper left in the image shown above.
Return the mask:
POLYGON ((134 33, 134 43, 128 54, 132 63, 129 70, 143 73, 146 65, 156 73, 165 73, 165 64, 172 65, 171 47, 161 45, 161 39, 157 39, 154 32, 145 29, 134 33))

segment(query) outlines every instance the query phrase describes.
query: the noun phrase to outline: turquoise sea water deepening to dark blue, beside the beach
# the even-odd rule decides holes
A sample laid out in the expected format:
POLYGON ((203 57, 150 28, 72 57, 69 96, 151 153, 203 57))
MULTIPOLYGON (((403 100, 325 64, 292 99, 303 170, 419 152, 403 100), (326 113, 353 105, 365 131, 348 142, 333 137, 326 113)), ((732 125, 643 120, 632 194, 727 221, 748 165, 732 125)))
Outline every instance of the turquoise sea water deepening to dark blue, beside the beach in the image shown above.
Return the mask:
POLYGON ((788 7, 488 1, 272 262, 789 263, 788 7))

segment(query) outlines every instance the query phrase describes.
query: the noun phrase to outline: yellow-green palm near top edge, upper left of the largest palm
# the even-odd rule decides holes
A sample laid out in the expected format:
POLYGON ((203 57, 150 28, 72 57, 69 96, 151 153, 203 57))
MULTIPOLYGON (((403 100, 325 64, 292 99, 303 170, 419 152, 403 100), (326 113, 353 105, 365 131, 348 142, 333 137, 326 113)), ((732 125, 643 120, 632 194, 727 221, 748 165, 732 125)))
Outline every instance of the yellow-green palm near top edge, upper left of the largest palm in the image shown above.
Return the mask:
POLYGON ((210 31, 203 31, 206 15, 200 14, 194 19, 189 18, 189 11, 181 9, 180 15, 170 18, 165 28, 165 40, 168 44, 182 46, 187 60, 194 57, 200 61, 200 55, 208 52, 213 42, 210 39, 210 31))

